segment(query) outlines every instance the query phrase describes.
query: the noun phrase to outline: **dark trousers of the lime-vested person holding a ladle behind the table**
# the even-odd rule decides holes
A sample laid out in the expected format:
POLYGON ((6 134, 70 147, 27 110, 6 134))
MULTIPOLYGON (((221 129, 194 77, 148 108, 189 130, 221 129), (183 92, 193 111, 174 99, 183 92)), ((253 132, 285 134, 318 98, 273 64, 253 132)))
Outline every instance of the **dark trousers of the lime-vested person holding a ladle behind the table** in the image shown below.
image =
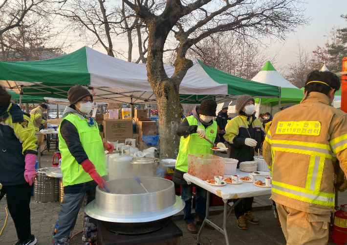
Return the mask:
MULTIPOLYGON (((195 195, 195 213, 200 216, 202 220, 206 216, 206 194, 207 191, 199 186, 196 186, 196 195, 195 195)), ((192 196, 193 196, 193 187, 192 186, 183 186, 181 197, 183 201, 186 202, 186 206, 183 209, 184 217, 183 220, 186 223, 194 221, 194 215, 192 214, 192 196)))

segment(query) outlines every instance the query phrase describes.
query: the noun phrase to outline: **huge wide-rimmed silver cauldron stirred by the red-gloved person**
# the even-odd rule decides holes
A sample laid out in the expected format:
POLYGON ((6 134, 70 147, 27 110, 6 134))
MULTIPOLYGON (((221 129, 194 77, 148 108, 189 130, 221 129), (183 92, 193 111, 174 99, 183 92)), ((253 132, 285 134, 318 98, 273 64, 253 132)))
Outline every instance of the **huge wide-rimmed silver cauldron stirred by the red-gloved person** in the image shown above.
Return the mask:
POLYGON ((140 234, 160 229, 184 208, 184 201, 175 196, 172 181, 155 177, 139 179, 149 193, 135 178, 111 180, 107 182, 111 193, 98 186, 95 200, 86 206, 86 214, 106 221, 105 227, 113 232, 140 234))

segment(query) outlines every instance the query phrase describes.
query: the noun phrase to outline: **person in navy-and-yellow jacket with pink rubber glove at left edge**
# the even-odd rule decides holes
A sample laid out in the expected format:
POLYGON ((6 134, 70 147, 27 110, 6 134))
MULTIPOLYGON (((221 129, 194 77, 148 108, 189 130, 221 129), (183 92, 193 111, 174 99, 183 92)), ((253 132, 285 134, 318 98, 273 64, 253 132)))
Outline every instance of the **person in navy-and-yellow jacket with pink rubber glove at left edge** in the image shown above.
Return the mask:
MULTIPOLYGON (((37 139, 27 114, 10 99, 11 95, 0 85, 0 200, 6 195, 19 240, 16 245, 35 245, 37 240, 31 234, 29 204, 37 175, 37 139)), ((10 229, 8 225, 6 229, 10 229)))

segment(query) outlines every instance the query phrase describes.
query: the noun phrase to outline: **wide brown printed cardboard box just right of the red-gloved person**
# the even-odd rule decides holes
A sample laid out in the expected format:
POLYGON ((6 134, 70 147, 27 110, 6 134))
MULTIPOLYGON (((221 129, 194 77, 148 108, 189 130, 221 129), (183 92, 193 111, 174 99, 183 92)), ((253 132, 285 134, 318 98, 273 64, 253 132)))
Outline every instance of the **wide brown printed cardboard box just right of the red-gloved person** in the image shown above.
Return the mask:
POLYGON ((122 119, 106 119, 103 121, 105 139, 131 138, 132 121, 122 119))

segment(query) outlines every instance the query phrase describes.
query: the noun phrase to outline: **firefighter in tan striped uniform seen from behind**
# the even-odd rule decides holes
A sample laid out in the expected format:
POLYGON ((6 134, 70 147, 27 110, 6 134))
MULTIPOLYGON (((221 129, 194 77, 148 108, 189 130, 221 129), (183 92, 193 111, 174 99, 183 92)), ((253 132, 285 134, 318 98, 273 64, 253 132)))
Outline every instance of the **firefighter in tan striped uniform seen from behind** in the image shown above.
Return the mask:
POLYGON ((309 73, 304 99, 278 112, 265 138, 271 198, 287 245, 328 242, 336 158, 347 173, 347 114, 331 106, 340 85, 334 73, 309 73))

